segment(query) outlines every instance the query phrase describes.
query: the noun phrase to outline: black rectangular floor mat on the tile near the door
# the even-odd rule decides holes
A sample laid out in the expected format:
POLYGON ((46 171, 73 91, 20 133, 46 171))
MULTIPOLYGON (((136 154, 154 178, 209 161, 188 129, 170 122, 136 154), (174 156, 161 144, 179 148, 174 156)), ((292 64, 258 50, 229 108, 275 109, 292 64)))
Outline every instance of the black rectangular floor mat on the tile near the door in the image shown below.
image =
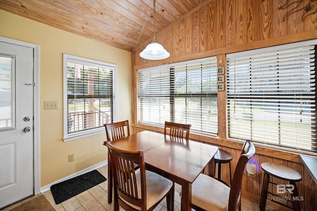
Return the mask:
POLYGON ((99 171, 93 170, 51 186, 56 205, 106 181, 99 171))

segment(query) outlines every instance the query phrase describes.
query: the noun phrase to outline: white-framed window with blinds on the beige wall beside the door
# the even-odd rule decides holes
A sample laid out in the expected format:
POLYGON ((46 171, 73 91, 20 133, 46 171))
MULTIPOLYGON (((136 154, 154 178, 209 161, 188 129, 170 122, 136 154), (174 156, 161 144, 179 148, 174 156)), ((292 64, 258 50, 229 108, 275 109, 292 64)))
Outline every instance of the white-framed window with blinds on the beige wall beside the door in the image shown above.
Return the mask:
POLYGON ((112 64, 64 54, 64 140, 113 122, 114 71, 112 64))

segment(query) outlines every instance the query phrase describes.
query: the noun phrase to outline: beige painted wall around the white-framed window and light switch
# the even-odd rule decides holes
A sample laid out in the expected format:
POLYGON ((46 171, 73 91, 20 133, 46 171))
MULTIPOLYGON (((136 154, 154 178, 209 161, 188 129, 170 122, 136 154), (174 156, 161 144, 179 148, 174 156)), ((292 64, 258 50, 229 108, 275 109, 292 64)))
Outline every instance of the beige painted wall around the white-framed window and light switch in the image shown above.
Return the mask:
POLYGON ((116 64, 118 120, 131 120, 131 53, 0 10, 0 36, 40 46, 41 187, 107 159, 105 134, 64 143, 62 53, 116 64), (44 101, 58 101, 44 110, 44 101), (68 155, 75 160, 68 162, 68 155))

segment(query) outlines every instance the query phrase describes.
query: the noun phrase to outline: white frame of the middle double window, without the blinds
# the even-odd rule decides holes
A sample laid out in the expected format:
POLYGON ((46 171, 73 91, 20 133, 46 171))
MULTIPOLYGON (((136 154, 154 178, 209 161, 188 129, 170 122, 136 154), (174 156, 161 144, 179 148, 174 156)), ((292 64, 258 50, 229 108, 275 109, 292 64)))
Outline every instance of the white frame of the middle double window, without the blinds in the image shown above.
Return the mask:
MULTIPOLYGON (((156 69, 168 69, 167 71, 169 71, 169 86, 170 87, 173 87, 175 85, 175 67, 177 66, 182 66, 182 65, 191 65, 191 64, 195 64, 195 63, 198 63, 198 62, 206 62, 206 61, 214 61, 215 63, 215 73, 214 73, 214 84, 215 84, 215 88, 216 88, 216 85, 217 85, 217 57, 216 56, 210 56, 210 57, 205 57, 205 58, 200 58, 200 59, 193 59, 193 60, 187 60, 187 61, 182 61, 182 62, 177 62, 177 63, 171 63, 171 64, 164 64, 164 65, 159 65, 159 66, 153 66, 153 67, 148 67, 148 68, 142 68, 142 69, 138 69, 138 74, 139 74, 139 79, 140 79, 140 72, 142 71, 148 71, 148 70, 156 70, 156 69)), ((211 63, 212 63, 211 62, 211 63)), ((166 70, 163 70, 163 71, 166 71, 166 70)), ((138 119, 137 119, 137 123, 138 124, 143 124, 143 125, 148 125, 148 126, 158 126, 158 127, 163 127, 163 123, 148 123, 148 122, 145 122, 145 121, 141 121, 141 115, 143 113, 143 111, 141 110, 141 97, 140 97, 140 80, 138 80, 138 110, 137 110, 137 113, 138 113, 138 119)), ((165 98, 168 98, 169 99, 169 106, 170 106, 170 111, 169 111, 169 116, 170 116, 170 119, 166 119, 166 121, 174 121, 175 120, 175 104, 176 104, 176 99, 178 98, 186 98, 186 99, 189 99, 190 98, 196 98, 196 97, 200 97, 202 101, 202 98, 206 98, 206 97, 212 97, 213 99, 215 99, 215 102, 217 103, 218 101, 218 92, 217 90, 215 89, 215 93, 201 93, 201 94, 190 94, 190 93, 185 93, 185 94, 174 94, 172 92, 172 90, 170 91, 170 93, 168 95, 166 94, 163 94, 163 95, 157 95, 157 97, 165 97, 165 98), (174 113, 173 113, 174 112, 174 113)), ((218 109, 217 109, 218 110, 218 109)), ((216 119, 218 119, 218 112, 216 112, 216 119)), ((180 123, 186 123, 186 124, 190 124, 190 122, 180 122, 180 123)), ((218 125, 218 120, 216 120, 216 124, 218 125)), ((201 125, 200 125, 201 127, 201 125)), ((205 131, 194 131, 193 130, 193 125, 192 125, 192 128, 191 128, 191 132, 192 133, 196 133, 196 134, 201 134, 201 135, 208 135, 208 136, 212 136, 212 137, 216 137, 218 135, 218 126, 215 127, 216 128, 216 132, 213 133, 212 132, 205 132, 205 131)))

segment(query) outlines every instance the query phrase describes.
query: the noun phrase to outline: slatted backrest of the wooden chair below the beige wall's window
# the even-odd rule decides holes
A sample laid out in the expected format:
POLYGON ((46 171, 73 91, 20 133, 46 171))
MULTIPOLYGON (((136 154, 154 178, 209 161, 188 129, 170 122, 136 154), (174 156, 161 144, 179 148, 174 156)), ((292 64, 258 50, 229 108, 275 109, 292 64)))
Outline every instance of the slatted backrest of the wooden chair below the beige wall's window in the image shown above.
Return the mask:
POLYGON ((104 126, 106 128, 107 141, 121 139, 130 135, 128 120, 104 124, 104 126))

